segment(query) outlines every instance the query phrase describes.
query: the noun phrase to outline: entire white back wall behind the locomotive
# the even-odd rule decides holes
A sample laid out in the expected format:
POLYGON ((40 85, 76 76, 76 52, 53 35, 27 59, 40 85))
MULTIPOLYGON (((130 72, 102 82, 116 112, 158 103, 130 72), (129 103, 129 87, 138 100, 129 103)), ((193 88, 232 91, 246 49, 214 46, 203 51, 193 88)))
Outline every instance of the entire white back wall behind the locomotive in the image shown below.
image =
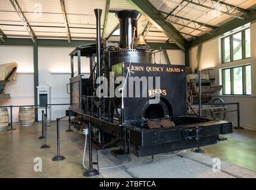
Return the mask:
MULTIPOLYGON (((70 78, 70 56, 74 47, 38 47, 39 85, 46 83, 51 86, 51 103, 69 103, 66 85, 70 78)), ((161 63, 166 64, 163 52, 161 63)), ((182 50, 167 50, 171 64, 185 65, 182 50)), ((89 72, 89 58, 82 58, 82 73, 89 72)), ((160 53, 156 53, 155 61, 159 63, 160 53)), ((1 103, 5 105, 33 105, 33 47, 32 46, 0 46, 0 64, 17 62, 17 81, 13 81, 5 93, 11 94, 11 99, 1 103), (28 73, 29 72, 29 73, 28 73)), ((74 57, 74 71, 77 74, 77 58, 74 57)), ((88 75, 86 75, 88 77, 88 75)), ((52 106, 51 119, 65 115, 68 106, 52 106)), ((39 109, 39 121, 41 109, 39 109)), ((18 109, 14 108, 14 121, 18 121, 18 109)))

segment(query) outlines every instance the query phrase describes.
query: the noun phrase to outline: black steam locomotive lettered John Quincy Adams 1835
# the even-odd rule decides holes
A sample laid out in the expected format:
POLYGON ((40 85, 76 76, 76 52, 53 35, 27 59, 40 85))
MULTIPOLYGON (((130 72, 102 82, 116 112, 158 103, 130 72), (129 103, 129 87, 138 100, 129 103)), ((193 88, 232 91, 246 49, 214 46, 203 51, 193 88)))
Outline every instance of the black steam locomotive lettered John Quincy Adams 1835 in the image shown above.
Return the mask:
POLYGON ((232 122, 186 114, 186 68, 155 64, 154 53, 138 36, 138 11, 115 14, 120 22, 120 43, 101 39, 101 9, 95 9, 95 15, 96 45, 79 46, 70 53, 70 110, 77 129, 90 125, 92 139, 100 147, 118 145, 120 150, 113 151, 116 156, 131 152, 138 157, 215 144, 218 135, 232 133, 232 122), (74 56, 78 62, 76 77, 74 56), (90 59, 89 78, 81 75, 81 56, 90 59), (120 96, 113 94, 111 84, 100 88, 103 80, 98 84, 98 77, 108 81, 123 77, 114 85, 120 96), (144 78, 152 85, 139 81, 130 87, 136 81, 129 77, 144 78), (108 95, 99 96, 104 90, 108 95), (145 96, 136 96, 138 91, 145 96), (131 96, 124 96, 124 92, 131 96))

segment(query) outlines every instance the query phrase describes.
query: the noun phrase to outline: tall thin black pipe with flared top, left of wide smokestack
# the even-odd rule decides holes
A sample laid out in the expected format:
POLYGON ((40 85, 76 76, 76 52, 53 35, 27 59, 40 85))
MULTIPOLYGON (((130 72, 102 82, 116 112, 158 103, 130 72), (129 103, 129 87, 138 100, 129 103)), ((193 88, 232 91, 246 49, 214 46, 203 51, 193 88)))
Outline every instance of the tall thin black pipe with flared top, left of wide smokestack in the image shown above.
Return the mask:
POLYGON ((101 12, 102 9, 94 9, 96 17, 96 53, 97 53, 97 75, 101 76, 101 12))

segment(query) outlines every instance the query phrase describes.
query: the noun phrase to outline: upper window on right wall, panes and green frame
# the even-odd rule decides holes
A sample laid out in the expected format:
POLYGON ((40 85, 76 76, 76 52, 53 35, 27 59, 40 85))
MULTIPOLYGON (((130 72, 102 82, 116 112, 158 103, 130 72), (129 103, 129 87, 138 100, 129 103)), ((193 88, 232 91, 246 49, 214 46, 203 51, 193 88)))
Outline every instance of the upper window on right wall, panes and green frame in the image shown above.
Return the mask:
POLYGON ((246 29, 221 39, 223 64, 251 57, 250 35, 250 29, 246 29))

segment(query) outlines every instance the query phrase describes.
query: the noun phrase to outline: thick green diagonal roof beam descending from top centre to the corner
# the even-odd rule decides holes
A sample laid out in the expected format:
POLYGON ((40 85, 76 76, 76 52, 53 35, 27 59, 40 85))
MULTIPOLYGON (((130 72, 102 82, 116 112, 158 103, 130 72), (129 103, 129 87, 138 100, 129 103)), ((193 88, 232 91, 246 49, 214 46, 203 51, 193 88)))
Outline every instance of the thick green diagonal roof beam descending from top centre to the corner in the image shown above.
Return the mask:
POLYGON ((148 0, 127 0, 135 9, 141 12, 155 27, 163 31, 180 49, 187 49, 187 40, 171 23, 168 23, 148 0))

